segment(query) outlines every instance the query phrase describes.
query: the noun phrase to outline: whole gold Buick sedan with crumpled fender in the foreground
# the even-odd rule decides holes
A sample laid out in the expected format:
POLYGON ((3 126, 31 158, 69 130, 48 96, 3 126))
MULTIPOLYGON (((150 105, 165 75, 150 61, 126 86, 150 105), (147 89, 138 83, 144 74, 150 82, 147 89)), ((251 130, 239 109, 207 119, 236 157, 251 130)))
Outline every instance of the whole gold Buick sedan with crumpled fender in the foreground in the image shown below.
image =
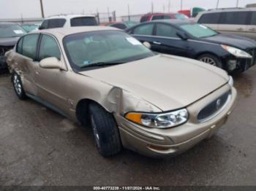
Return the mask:
POLYGON ((20 99, 91 124, 105 157, 122 146, 151 157, 184 152, 217 132, 237 94, 222 69, 156 55, 106 26, 32 32, 7 61, 20 99))

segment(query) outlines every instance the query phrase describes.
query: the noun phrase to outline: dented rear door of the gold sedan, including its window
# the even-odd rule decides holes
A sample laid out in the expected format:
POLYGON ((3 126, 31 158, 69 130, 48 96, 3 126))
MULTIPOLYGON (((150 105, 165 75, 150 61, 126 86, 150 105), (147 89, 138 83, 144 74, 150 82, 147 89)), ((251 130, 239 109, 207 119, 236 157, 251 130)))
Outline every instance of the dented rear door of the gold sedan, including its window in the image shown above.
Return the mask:
POLYGON ((14 56, 15 71, 18 71, 20 74, 24 90, 31 95, 37 95, 35 66, 38 65, 38 62, 35 59, 38 39, 39 34, 23 36, 18 42, 17 53, 14 56))

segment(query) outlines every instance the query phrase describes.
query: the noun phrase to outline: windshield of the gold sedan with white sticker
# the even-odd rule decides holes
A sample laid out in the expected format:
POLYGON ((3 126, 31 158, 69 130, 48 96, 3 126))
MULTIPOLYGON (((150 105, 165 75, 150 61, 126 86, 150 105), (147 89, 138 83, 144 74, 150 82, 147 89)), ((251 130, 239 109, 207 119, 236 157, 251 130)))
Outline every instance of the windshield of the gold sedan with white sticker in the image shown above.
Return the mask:
POLYGON ((121 31, 97 31, 72 34, 64 38, 64 48, 72 67, 113 66, 153 56, 137 39, 121 31), (103 66, 103 64, 102 64, 103 66))

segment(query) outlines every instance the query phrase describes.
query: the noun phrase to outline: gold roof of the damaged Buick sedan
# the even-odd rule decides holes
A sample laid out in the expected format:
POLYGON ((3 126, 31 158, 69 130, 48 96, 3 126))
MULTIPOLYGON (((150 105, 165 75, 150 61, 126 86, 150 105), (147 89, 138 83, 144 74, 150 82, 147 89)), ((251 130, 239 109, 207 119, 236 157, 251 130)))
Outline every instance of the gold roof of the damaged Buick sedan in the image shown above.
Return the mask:
POLYGON ((53 34, 54 36, 67 36, 69 34, 77 34, 90 31, 120 31, 118 28, 113 28, 109 26, 78 26, 78 27, 69 27, 69 28, 50 28, 45 30, 34 31, 30 34, 45 33, 53 34))

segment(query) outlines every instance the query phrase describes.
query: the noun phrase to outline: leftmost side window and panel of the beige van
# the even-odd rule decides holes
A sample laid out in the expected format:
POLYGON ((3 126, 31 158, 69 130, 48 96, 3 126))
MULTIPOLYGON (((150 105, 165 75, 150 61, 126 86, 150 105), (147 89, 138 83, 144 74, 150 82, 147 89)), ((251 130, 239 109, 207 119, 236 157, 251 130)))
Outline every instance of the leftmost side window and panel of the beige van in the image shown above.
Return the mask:
POLYGON ((218 29, 220 12, 211 12, 201 15, 197 23, 204 24, 214 30, 218 29))

